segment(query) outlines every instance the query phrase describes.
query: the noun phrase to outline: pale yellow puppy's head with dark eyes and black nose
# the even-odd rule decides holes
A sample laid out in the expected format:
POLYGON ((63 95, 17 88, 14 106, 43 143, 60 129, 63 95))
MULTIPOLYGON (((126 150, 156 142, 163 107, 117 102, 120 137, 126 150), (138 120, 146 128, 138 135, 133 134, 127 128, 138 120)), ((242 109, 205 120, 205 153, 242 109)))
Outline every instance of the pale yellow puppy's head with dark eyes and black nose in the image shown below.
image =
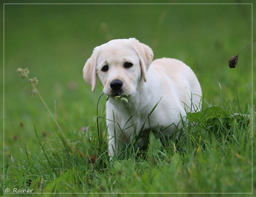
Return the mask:
POLYGON ((153 59, 151 48, 135 38, 116 39, 94 48, 83 67, 83 78, 95 90, 98 76, 103 92, 109 96, 132 96, 138 83, 146 82, 146 71, 153 59))

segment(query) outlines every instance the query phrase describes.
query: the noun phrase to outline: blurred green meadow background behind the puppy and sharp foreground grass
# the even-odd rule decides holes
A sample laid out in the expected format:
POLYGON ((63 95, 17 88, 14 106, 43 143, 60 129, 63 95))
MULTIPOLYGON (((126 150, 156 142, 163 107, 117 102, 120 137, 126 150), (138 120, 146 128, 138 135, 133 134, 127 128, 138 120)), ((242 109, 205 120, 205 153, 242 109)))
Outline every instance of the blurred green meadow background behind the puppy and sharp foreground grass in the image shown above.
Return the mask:
POLYGON ((95 124, 102 90, 98 83, 91 93, 82 78, 83 65, 95 46, 111 39, 135 37, 152 47, 154 59, 185 62, 195 71, 210 104, 220 103, 219 83, 230 104, 236 102, 237 92, 243 101, 250 101, 255 96, 251 80, 256 72, 251 46, 240 54, 237 68, 227 64, 252 40, 252 5, 238 2, 242 1, 228 5, 4 5, 5 154, 13 155, 25 144, 30 151, 40 149, 35 147, 33 124, 42 138, 54 139, 56 130, 16 69, 28 68, 30 77, 37 77, 41 96, 53 114, 56 106, 57 120, 72 139, 83 126, 95 124))

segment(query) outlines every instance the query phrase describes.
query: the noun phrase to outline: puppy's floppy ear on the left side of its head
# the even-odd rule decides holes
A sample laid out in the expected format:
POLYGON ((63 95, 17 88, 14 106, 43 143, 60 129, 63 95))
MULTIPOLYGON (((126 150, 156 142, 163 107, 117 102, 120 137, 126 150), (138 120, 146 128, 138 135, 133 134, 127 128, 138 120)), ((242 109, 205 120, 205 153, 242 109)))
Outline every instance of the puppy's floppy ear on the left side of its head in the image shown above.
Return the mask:
POLYGON ((87 60, 83 67, 83 79, 92 87, 92 92, 95 90, 97 82, 96 74, 97 47, 94 48, 92 56, 87 60))

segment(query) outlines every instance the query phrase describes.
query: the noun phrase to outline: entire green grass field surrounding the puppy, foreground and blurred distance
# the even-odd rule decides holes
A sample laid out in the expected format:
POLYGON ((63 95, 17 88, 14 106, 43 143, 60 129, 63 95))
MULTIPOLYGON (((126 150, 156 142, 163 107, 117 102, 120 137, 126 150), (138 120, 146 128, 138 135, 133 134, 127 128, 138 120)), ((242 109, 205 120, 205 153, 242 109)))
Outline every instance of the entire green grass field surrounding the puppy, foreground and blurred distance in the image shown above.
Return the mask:
POLYGON ((0 194, 254 196, 255 47, 239 55, 237 68, 227 61, 252 40, 256 23, 251 4, 228 3, 234 4, 4 5, 0 194), (151 134, 145 152, 131 145, 109 161, 104 118, 97 125, 105 97, 99 100, 99 83, 91 93, 82 68, 95 46, 129 37, 152 47, 154 59, 189 65, 205 102, 202 112, 187 116, 191 125, 178 140, 163 146, 151 134), (18 67, 38 79, 51 113, 31 97, 18 67))

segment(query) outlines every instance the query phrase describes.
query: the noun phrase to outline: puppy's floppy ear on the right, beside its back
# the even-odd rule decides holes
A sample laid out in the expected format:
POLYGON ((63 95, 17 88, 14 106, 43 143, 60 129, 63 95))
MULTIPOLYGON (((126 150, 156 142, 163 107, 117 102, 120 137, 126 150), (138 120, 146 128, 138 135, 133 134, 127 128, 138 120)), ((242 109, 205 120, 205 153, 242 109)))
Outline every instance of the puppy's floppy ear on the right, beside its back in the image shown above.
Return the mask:
POLYGON ((153 51, 151 47, 147 46, 146 44, 140 43, 135 38, 129 38, 129 41, 131 41, 133 49, 136 51, 137 55, 139 56, 142 77, 146 82, 146 72, 153 60, 153 56, 154 56, 153 51))

